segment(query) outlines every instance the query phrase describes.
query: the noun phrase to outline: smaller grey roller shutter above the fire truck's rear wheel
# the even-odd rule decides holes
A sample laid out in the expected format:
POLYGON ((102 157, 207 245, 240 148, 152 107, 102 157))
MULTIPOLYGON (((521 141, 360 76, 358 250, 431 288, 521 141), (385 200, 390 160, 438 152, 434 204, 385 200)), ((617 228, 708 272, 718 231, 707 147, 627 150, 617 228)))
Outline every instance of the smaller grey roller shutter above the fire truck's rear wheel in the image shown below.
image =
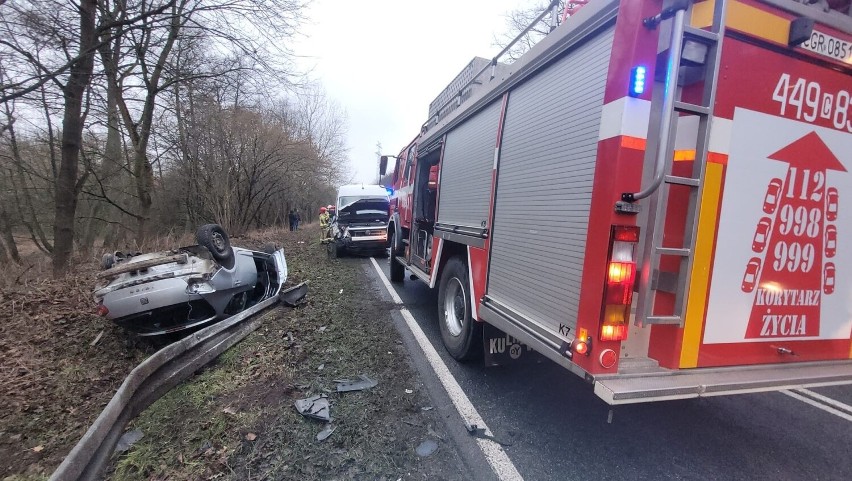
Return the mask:
POLYGON ((439 224, 485 227, 500 107, 501 101, 492 102, 447 134, 441 165, 439 224))

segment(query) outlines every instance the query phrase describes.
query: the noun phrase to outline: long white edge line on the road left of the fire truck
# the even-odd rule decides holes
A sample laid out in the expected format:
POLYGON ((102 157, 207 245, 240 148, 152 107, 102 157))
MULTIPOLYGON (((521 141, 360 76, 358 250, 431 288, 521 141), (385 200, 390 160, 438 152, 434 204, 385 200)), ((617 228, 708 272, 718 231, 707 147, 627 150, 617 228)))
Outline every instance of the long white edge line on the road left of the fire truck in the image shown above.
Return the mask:
MULTIPOLYGON (((370 261, 373 263, 373 267, 376 268, 376 272, 382 279, 382 283, 384 283, 385 288, 388 290, 391 298, 393 298, 393 301, 396 304, 402 305, 402 299, 400 299, 399 295, 396 293, 396 290, 385 276, 385 273, 382 272, 382 269, 379 267, 379 263, 372 257, 370 258, 370 261)), ((417 324, 417 321, 414 320, 414 316, 411 315, 411 312, 409 312, 405 307, 401 307, 399 312, 402 314, 403 319, 405 319, 405 324, 408 326, 408 329, 411 330, 411 333, 420 345, 420 349, 423 350, 426 360, 429 361, 429 365, 432 366, 432 370, 435 371, 435 374, 438 376, 438 379, 441 381, 441 384, 447 391, 447 395, 450 396, 450 400, 453 401, 453 405, 455 405, 456 410, 459 415, 461 415, 465 424, 468 426, 475 424, 476 427, 485 429, 485 434, 493 436, 491 429, 485 425, 485 421, 482 419, 482 416, 479 415, 479 412, 470 402, 470 399, 467 398, 467 394, 464 393, 461 386, 459 386, 458 381, 456 381, 456 378, 453 377, 452 373, 447 368, 447 365, 444 364, 441 356, 438 355, 438 351, 435 350, 432 343, 426 338, 426 334, 424 334, 423 330, 420 329, 420 326, 417 324)), ((485 459, 488 460, 488 464, 491 465, 491 469, 494 470, 494 473, 497 474, 499 479, 507 481, 522 481, 524 479, 518 472, 517 468, 515 468, 515 465, 512 463, 512 460, 509 459, 509 456, 506 454, 506 451, 503 450, 502 446, 494 441, 480 438, 476 438, 476 442, 479 444, 479 449, 481 449, 482 453, 485 455, 485 459)))

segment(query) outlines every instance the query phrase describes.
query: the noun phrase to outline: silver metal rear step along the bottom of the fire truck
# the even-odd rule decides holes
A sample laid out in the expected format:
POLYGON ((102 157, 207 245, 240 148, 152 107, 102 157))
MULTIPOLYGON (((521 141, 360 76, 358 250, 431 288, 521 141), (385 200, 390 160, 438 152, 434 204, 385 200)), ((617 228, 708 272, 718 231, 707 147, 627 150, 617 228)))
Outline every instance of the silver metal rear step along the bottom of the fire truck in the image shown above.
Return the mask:
POLYGON ((852 361, 598 376, 595 394, 616 405, 839 384, 852 384, 852 361))

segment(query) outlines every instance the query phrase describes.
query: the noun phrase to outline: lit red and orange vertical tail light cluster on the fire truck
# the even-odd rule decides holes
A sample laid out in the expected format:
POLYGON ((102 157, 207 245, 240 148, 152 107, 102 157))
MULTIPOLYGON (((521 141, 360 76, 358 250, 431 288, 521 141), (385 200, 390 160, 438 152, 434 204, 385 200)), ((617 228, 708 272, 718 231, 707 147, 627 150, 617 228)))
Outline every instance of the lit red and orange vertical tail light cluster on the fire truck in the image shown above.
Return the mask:
POLYGON ((636 283, 636 246, 639 228, 613 226, 609 241, 606 286, 601 310, 601 341, 627 339, 627 321, 636 283))

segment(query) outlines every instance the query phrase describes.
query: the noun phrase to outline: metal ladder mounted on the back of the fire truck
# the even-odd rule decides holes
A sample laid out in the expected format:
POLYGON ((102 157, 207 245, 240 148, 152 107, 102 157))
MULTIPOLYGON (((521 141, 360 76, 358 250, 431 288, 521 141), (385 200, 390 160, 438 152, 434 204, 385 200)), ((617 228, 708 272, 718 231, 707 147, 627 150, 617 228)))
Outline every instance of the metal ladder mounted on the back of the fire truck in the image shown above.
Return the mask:
MULTIPOLYGON (((701 199, 704 170, 710 141, 710 124, 715 102, 716 83, 719 75, 721 42, 724 35, 724 18, 727 0, 707 0, 713 2, 713 24, 710 30, 702 30, 688 25, 687 19, 695 8, 691 0, 668 1, 662 13, 644 20, 648 28, 656 28, 663 20, 672 19, 671 43, 666 52, 660 54, 666 59, 664 82, 654 83, 654 95, 651 102, 650 125, 659 126, 658 135, 648 135, 647 151, 656 153, 653 180, 643 191, 625 193, 622 200, 635 202, 648 199, 648 219, 645 225, 653 226, 646 233, 643 243, 643 266, 640 279, 637 325, 673 324, 683 326, 689 294, 689 280, 692 275, 695 238, 698 230, 698 205, 701 199), (704 88, 700 104, 680 100, 683 85, 702 81, 704 88), (695 139, 695 160, 691 177, 672 175, 675 138, 678 120, 681 116, 693 116, 698 119, 697 138, 695 139), (686 222, 681 246, 663 246, 666 225, 666 212, 669 207, 671 186, 685 186, 689 189, 686 222), (652 195, 656 193, 656 195, 652 195), (674 273, 660 269, 663 257, 680 259, 677 277, 674 273), (658 292, 674 295, 674 310, 670 315, 654 313, 654 300, 658 292)), ((658 62, 658 65, 659 62, 658 62)), ((657 70, 660 70, 658 67, 657 70)), ((662 73, 662 72, 661 72, 662 73)))

